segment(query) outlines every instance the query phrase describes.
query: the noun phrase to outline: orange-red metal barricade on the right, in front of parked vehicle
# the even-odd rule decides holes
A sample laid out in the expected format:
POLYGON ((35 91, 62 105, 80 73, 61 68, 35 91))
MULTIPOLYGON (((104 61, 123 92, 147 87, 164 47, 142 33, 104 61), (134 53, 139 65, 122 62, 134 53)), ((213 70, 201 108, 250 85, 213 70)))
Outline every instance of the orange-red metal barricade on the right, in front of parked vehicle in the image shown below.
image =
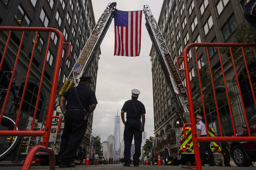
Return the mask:
MULTIPOLYGON (((190 114, 190 123, 189 124, 185 124, 185 125, 191 125, 191 131, 192 131, 192 138, 193 138, 193 143, 194 143, 194 149, 195 149, 195 160, 196 160, 196 168, 193 167, 187 167, 187 168, 191 168, 191 169, 197 169, 197 170, 201 170, 201 161, 200 161, 200 154, 199 154, 199 147, 198 147, 198 142, 209 142, 209 141, 256 141, 256 137, 255 134, 252 135, 250 133, 250 130, 248 130, 248 136, 243 136, 243 137, 239 137, 237 136, 237 131, 236 131, 236 125, 234 123, 234 106, 232 105, 232 103, 230 102, 230 91, 228 91, 228 89, 230 88, 230 79, 232 79, 232 81, 234 82, 232 86, 236 86, 237 92, 238 92, 238 98, 237 100, 240 101, 240 108, 241 112, 243 112, 244 115, 244 119, 246 122, 246 126, 247 129, 249 128, 248 125, 248 119, 247 119, 247 115, 246 115, 246 111, 245 111, 245 105, 244 105, 244 101, 243 101, 243 97, 242 97, 242 90, 241 88, 244 87, 240 87, 240 82, 239 82, 239 78, 238 78, 238 70, 240 71, 241 74, 241 68, 243 68, 245 71, 243 72, 245 74, 245 76, 247 76, 248 78, 248 82, 250 83, 250 90, 251 90, 251 96, 253 97, 253 102, 254 105, 256 106, 256 100, 255 100, 255 94, 254 94, 254 88, 253 87, 253 83, 251 80, 251 72, 252 70, 250 70, 248 68, 248 63, 250 63, 251 65, 253 65, 253 68, 256 68, 256 53, 255 53, 255 48, 256 48, 256 44, 254 43, 192 43, 189 44, 188 46, 185 47, 184 51, 183 51, 183 56, 181 56, 184 60, 184 69, 185 69, 185 78, 186 78, 186 88, 187 88, 187 97, 188 97, 188 107, 189 107, 189 114, 190 114), (194 48, 193 48, 194 47, 194 48), (214 50, 213 50, 214 48, 214 50), (197 66, 195 71, 197 73, 197 81, 199 81, 199 87, 197 87, 197 95, 192 93, 191 90, 191 82, 189 80, 191 80, 190 78, 190 72, 189 72, 189 67, 188 67, 188 52, 189 50, 193 50, 195 55, 194 55, 194 61, 195 64, 197 66), (211 51, 211 55, 209 54, 209 49, 213 50, 215 52, 212 53, 211 51), (201 50, 201 51, 200 51, 201 50), (223 51, 222 51, 223 50, 223 51), (208 77, 203 77, 201 78, 200 75, 202 74, 199 70, 200 67, 202 67, 202 64, 199 62, 200 58, 198 57, 198 53, 202 53, 205 54, 207 57, 207 61, 204 63, 205 66, 204 68, 207 69, 207 72, 209 73, 208 77), (234 53, 236 56, 234 56, 234 53), (229 54, 229 55, 226 55, 229 54), (210 57, 211 56, 211 57, 210 57), (212 58, 214 58, 214 60, 212 60, 212 58), (211 66, 212 62, 219 60, 219 67, 218 67, 218 71, 213 70, 213 66, 211 66), (250 62, 253 61, 253 62, 250 62), (238 62, 240 62, 238 64, 238 62), (221 68, 221 69, 220 69, 221 68), (233 76, 227 75, 227 70, 231 71, 233 73, 233 76), (217 84, 215 85, 215 78, 214 75, 216 75, 216 73, 214 72, 216 71, 216 73, 219 73, 218 76, 222 77, 223 80, 223 84, 217 84), (230 78, 231 77, 231 78, 230 78), (204 83, 205 79, 209 79, 210 83, 208 84, 207 88, 212 88, 213 90, 213 95, 214 96, 214 104, 216 107, 216 115, 214 115, 215 117, 217 117, 215 125, 216 128, 219 129, 219 137, 212 137, 208 134, 207 132, 207 137, 198 137, 197 136, 197 131, 196 131, 196 122, 195 122, 195 113, 194 113, 194 103, 193 103, 193 99, 195 98, 199 98, 201 99, 201 104, 203 106, 203 117, 205 120, 205 125, 208 127, 207 124, 207 115, 206 115, 206 111, 205 111, 205 106, 206 103, 204 102, 209 96, 205 96, 204 94, 204 90, 205 87, 202 87, 202 83, 204 83), (221 125, 221 118, 220 118, 220 110, 218 108, 218 102, 217 101, 217 97, 216 97, 216 88, 218 86, 222 86, 222 88, 224 88, 225 90, 223 90, 225 97, 226 97, 226 101, 228 106, 227 108, 227 112, 230 113, 230 120, 232 123, 232 128, 230 128, 233 131, 233 134, 231 136, 225 136, 223 135, 223 128, 221 125), (218 127, 219 126, 219 127, 218 127)), ((201 54, 200 54, 201 55, 201 54)), ((190 56, 191 57, 191 56, 190 56)), ((190 59, 191 60, 191 59, 190 59)), ((191 62, 191 61, 190 61, 191 62)), ((179 68, 179 60, 177 59, 177 67, 179 68)), ((216 68, 216 67, 215 67, 216 68)), ((251 67, 252 68, 252 67, 251 67)), ((256 71, 256 70, 254 70, 256 71)), ((254 75, 255 76, 255 75, 254 75)), ((254 80, 255 83, 255 80, 254 80)), ((255 84, 254 84, 255 86, 255 84)), ((233 99, 232 99, 233 100, 233 99)), ((229 118, 228 118, 229 119, 229 118)), ((184 126, 185 126, 184 125, 184 126)), ((238 127, 238 126, 237 126, 238 127)), ((209 127, 208 127, 209 128, 209 127)))

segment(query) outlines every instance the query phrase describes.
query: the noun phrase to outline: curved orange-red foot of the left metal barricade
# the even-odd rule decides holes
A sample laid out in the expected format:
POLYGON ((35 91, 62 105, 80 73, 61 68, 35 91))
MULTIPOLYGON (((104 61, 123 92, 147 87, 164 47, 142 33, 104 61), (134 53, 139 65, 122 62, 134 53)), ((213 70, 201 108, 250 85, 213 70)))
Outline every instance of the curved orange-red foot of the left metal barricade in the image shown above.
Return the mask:
POLYGON ((45 148, 41 145, 34 146, 28 153, 25 162, 23 164, 22 170, 29 170, 31 167, 32 160, 37 152, 49 153, 49 163, 50 170, 55 170, 55 154, 52 148, 45 148))

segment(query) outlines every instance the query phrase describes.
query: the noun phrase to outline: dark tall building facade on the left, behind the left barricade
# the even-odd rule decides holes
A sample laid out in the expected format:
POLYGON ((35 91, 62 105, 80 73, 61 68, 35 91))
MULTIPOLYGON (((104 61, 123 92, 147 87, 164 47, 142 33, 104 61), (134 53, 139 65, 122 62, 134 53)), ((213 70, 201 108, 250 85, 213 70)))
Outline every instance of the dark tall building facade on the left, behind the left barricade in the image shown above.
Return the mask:
MULTIPOLYGON (((13 27, 53 27, 60 30, 64 36, 64 41, 71 43, 71 54, 66 61, 68 54, 68 46, 63 47, 62 60, 59 73, 58 88, 59 91, 65 79, 67 79, 74 63, 86 41, 95 26, 95 18, 91 0, 1 0, 0 1, 0 26, 13 27)), ((0 55, 2 57, 7 32, 0 33, 0 55)), ((0 86, 6 88, 6 78, 3 76, 3 71, 12 70, 14 67, 16 52, 20 43, 22 32, 12 32, 7 50, 1 68, 0 86)), ((33 55, 31 73, 28 80, 27 92, 23 103, 23 109, 20 116, 21 122, 25 124, 26 117, 29 113, 33 113, 35 107, 34 98, 37 96, 38 86, 43 67, 44 55, 46 53, 48 33, 39 32, 37 44, 33 55)), ((24 78, 31 57, 35 32, 26 32, 19 55, 21 64, 17 65, 14 77, 17 84, 21 86, 19 96, 22 95, 24 87, 24 78)), ((49 48, 47 52, 47 62, 45 66, 43 86, 36 115, 36 121, 42 122, 47 113, 49 103, 49 95, 51 93, 51 82, 53 80, 54 66, 56 61, 58 48, 58 36, 51 34, 49 48)), ((85 71, 84 76, 91 76, 93 84, 92 90, 96 90, 97 70, 99 62, 100 49, 96 56, 93 56, 91 66, 85 71)), ((58 94, 57 91, 57 94, 58 94)), ((6 112, 8 112, 6 109, 6 112)), ((11 111, 13 112, 13 111, 11 111)), ((30 116, 31 117, 31 116, 30 116)), ((93 114, 90 115, 88 121, 87 132, 92 132, 93 114)), ((24 125, 23 124, 23 125, 24 125)))

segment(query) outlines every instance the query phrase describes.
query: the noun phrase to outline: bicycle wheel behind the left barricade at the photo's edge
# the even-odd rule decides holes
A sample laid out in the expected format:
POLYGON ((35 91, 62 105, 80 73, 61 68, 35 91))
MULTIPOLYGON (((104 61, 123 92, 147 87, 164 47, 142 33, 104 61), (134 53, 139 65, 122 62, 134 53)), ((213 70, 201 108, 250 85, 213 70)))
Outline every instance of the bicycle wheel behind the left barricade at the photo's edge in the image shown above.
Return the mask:
MULTIPOLYGON (((0 124, 1 131, 12 131, 15 126, 15 120, 10 115, 3 115, 0 124)), ((21 130, 21 126, 17 124, 16 130, 21 130)), ((0 161, 6 158, 19 145, 22 136, 0 136, 0 161)))

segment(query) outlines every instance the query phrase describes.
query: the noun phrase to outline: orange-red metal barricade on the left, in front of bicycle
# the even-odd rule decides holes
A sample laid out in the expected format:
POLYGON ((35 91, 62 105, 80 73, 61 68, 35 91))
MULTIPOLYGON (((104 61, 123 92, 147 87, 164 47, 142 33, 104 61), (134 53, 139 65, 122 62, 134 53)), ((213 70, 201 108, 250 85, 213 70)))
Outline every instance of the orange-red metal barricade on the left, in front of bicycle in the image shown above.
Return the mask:
MULTIPOLYGON (((59 79, 59 71, 60 71, 60 64, 61 64, 61 58, 62 58, 63 44, 69 45, 69 50, 68 50, 68 55, 67 55, 66 60, 68 60, 69 55, 70 55, 71 44, 70 43, 64 43, 64 37, 63 37, 62 33, 59 30, 55 29, 55 28, 0 27, 0 31, 6 31, 7 33, 9 32, 8 38, 6 38, 5 48, 4 48, 4 51, 3 51, 2 58, 1 58, 0 70, 1 70, 2 65, 3 65, 3 61, 4 61, 4 58, 5 58, 6 52, 8 52, 8 50, 12 51, 12 52, 15 51, 15 50, 11 49, 10 47, 8 47, 11 34, 13 32, 21 32, 22 33, 22 36, 20 38, 19 47, 18 47, 18 50, 17 50, 17 53, 16 53, 17 55, 16 55, 16 59, 15 59, 15 62, 14 62, 10 82, 9 82, 9 85, 8 85, 8 90, 6 92, 6 96, 5 96, 5 99, 4 99, 2 108, 1 108, 0 123, 1 123, 2 118, 3 118, 3 114, 5 113, 5 106, 6 106, 6 103, 7 103, 8 96, 10 94, 10 90, 12 88, 12 81, 13 81, 13 78, 14 78, 16 67, 18 65, 18 62, 21 61, 20 54, 21 54, 22 46, 25 43, 28 44, 28 42, 23 43, 24 35, 29 35, 30 37, 29 36, 28 37, 31 38, 31 37, 33 37, 33 34, 34 34, 33 49, 32 49, 32 52, 31 52, 29 65, 27 66, 28 68, 27 68, 26 77, 25 78, 24 77, 19 78, 20 80, 25 80, 25 82, 24 82, 24 88, 23 88, 22 96, 20 97, 20 104, 18 106, 18 112, 16 113, 17 117, 16 117, 14 129, 13 130, 0 130, 0 136, 8 136, 8 135, 11 135, 11 136, 43 136, 42 145, 34 146, 29 151, 29 153, 28 153, 28 155, 25 159, 25 162, 23 164, 22 169, 23 170, 30 169, 32 159, 33 159, 35 153, 41 151, 41 152, 49 153, 50 169, 54 170, 55 169, 55 154, 54 154, 53 149, 48 148, 48 141, 49 141, 49 136, 50 136, 50 132, 51 132, 51 126, 52 126, 52 119, 53 118, 59 119, 58 131, 60 129, 61 118, 59 116, 53 116, 53 110, 54 110, 56 91, 57 91, 57 85, 58 85, 58 79, 59 79), (19 121, 20 113, 22 111, 22 105, 23 105, 23 101, 24 101, 25 91, 26 91, 26 88, 27 88, 27 85, 28 85, 29 75, 30 75, 30 72, 32 70, 31 65, 32 65, 33 57, 34 57, 34 51, 35 51, 35 48, 39 46, 39 43, 42 40, 41 39, 42 37, 39 36, 39 32, 40 33, 46 32, 46 34, 48 35, 48 38, 47 38, 47 44, 45 43, 46 44, 46 49, 43 50, 43 51, 45 51, 45 54, 42 51, 42 57, 44 58, 44 60, 42 60, 43 61, 42 70, 40 70, 39 73, 38 73, 39 75, 41 74, 41 79, 38 79, 38 82, 40 82, 40 83, 39 83, 39 88, 38 88, 37 100, 36 100, 35 106, 34 106, 34 113, 33 113, 33 119, 32 119, 32 123, 31 123, 31 129, 29 131, 27 131, 27 130, 17 130, 17 124, 18 124, 18 121, 19 121), (58 36, 59 41, 58 41, 58 44, 57 44, 57 54, 56 54, 55 66, 52 66, 54 68, 54 74, 53 74, 53 81, 50 82, 51 87, 49 87, 50 91, 51 91, 51 94, 50 94, 49 103, 48 103, 49 105, 48 105, 48 111, 47 111, 47 116, 46 116, 45 129, 42 130, 42 131, 33 131, 33 127, 34 127, 34 123, 35 123, 35 116, 36 116, 37 111, 38 111, 38 105, 39 105, 39 99, 40 99, 40 92, 41 92, 41 88, 42 88, 42 82, 45 79, 44 78, 44 72, 45 72, 47 54, 48 54, 49 43, 50 43, 50 40, 51 40, 51 34, 52 33, 55 33, 58 36)), ((41 47, 41 48, 43 48, 43 47, 41 47)), ((32 71, 34 72, 35 70, 32 70, 32 71)), ((39 78, 39 76, 38 76, 38 78, 39 78)))

